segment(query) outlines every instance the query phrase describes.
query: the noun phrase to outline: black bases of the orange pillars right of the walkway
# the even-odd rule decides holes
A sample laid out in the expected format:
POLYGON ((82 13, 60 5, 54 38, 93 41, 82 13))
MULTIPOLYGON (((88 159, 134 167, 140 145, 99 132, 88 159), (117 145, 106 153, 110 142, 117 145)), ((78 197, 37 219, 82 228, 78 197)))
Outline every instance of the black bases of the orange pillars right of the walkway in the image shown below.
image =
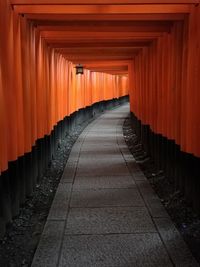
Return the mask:
POLYGON ((174 185, 174 192, 180 191, 187 203, 200 214, 200 158, 181 151, 174 140, 154 133, 149 125, 143 125, 132 113, 132 126, 139 142, 159 172, 174 185))

